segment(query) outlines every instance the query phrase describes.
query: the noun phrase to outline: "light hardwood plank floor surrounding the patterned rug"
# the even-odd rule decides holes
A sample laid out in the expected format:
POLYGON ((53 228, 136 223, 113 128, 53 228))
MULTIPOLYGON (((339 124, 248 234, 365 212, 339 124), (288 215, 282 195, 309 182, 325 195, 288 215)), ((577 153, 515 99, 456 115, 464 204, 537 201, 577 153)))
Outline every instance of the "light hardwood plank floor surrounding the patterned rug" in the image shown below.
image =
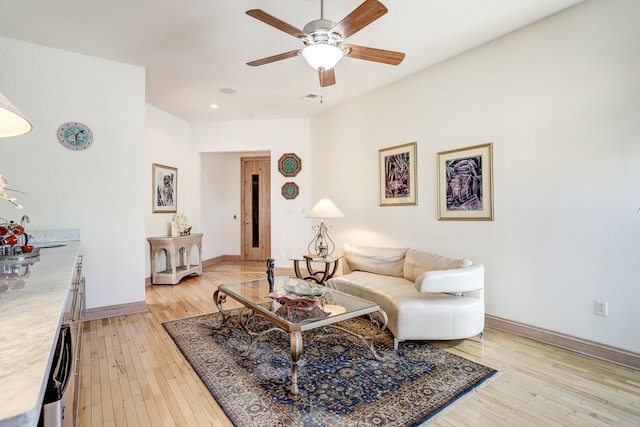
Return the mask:
MULTIPOLYGON (((216 311, 219 284, 264 276, 262 262, 215 264, 147 287, 147 313, 86 322, 79 425, 231 426, 162 322, 216 311)), ((639 371, 492 329, 433 344, 501 372, 436 426, 640 426, 639 371)))

